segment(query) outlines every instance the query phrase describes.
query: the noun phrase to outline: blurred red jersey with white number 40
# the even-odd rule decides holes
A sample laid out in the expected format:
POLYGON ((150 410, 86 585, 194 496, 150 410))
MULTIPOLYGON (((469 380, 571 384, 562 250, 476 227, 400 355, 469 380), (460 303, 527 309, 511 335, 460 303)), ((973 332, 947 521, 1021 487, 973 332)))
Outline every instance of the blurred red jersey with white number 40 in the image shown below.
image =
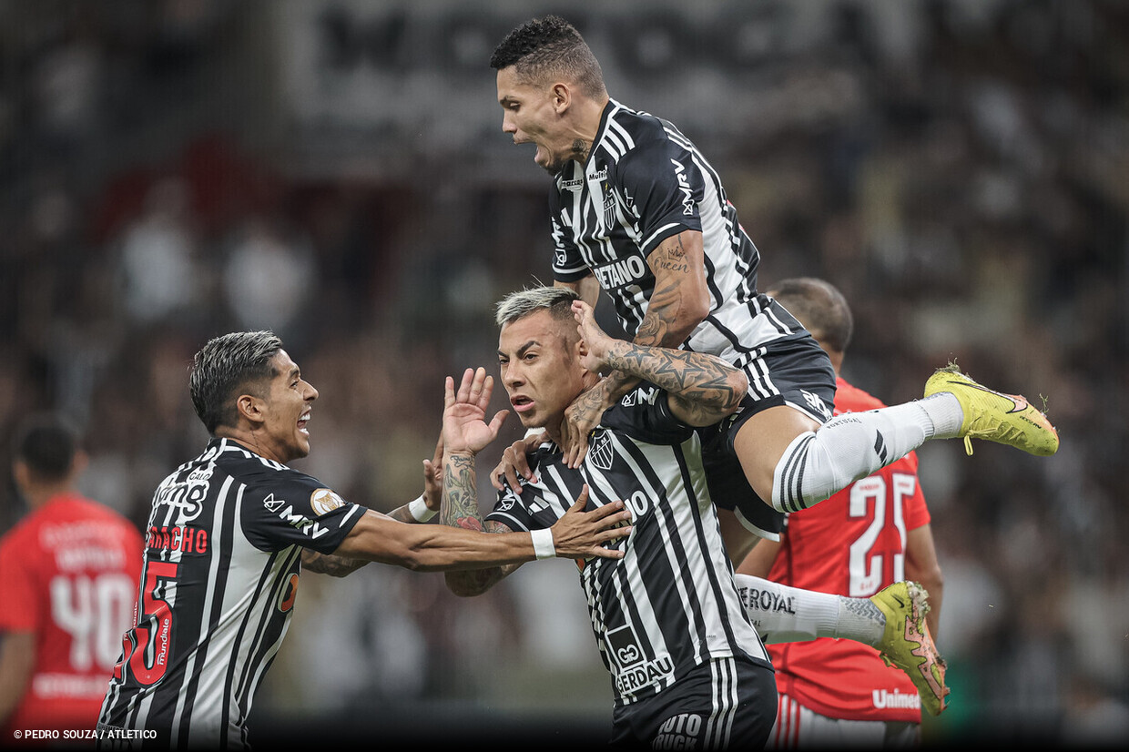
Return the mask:
POLYGON ((35 633, 35 667, 3 729, 93 729, 130 628, 141 533, 106 506, 58 496, 0 541, 0 631, 35 633))

